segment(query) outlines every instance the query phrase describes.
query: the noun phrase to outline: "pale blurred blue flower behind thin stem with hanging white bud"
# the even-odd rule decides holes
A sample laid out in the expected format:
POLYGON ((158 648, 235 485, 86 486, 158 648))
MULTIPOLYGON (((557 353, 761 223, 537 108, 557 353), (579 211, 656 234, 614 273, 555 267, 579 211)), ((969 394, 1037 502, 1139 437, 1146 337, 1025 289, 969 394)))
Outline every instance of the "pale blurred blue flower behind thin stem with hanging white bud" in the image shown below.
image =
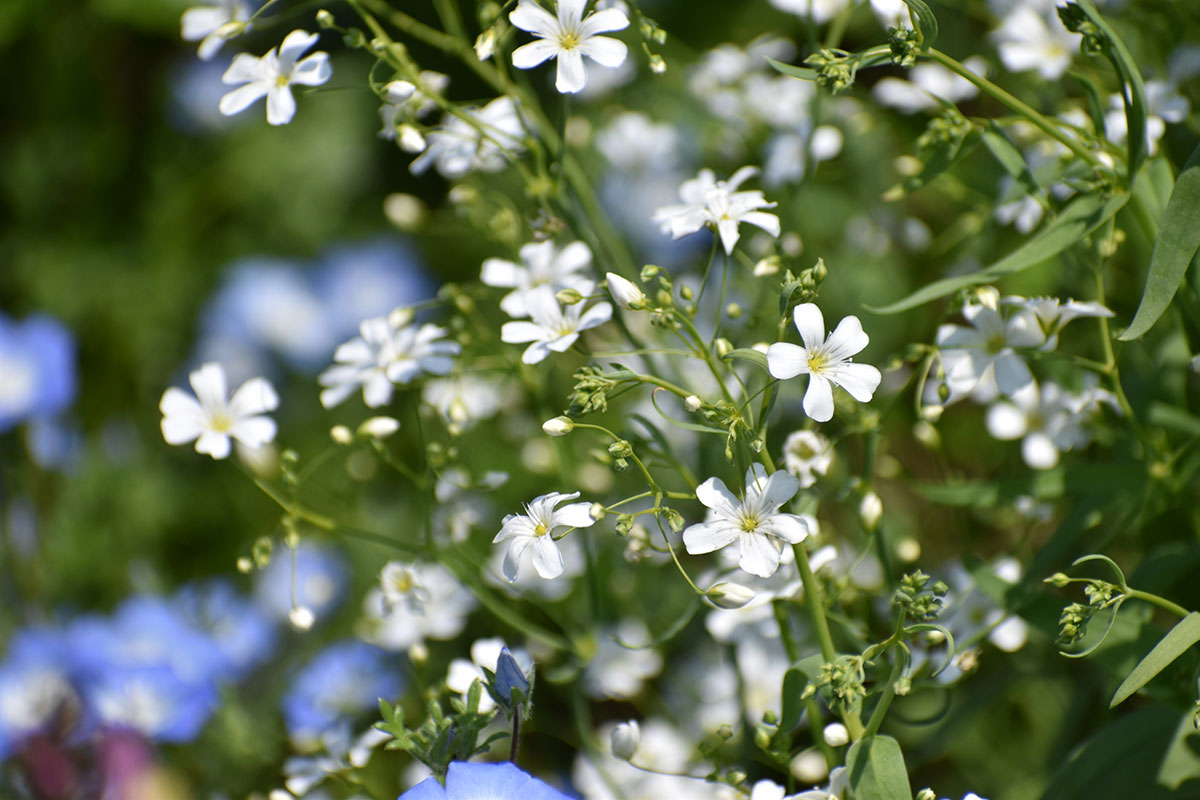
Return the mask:
MULTIPOLYGON (((271 563, 258 572, 254 599, 277 619, 292 613, 292 553, 276 553, 271 563)), ((347 569, 332 547, 301 542, 295 551, 295 603, 307 608, 320 620, 341 600, 346 588, 347 569)))

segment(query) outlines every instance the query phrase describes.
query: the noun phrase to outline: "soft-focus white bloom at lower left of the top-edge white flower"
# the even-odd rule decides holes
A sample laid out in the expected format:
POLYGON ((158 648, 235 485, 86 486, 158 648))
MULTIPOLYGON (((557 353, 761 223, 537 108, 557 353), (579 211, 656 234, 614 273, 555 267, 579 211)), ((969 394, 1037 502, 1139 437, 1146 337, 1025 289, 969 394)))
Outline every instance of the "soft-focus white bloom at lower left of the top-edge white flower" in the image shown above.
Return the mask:
POLYGON ((436 166, 443 178, 462 178, 479 170, 496 173, 504 169, 504 155, 521 151, 524 125, 511 97, 497 97, 482 108, 466 108, 475 125, 457 116, 443 118, 442 128, 427 137, 425 152, 413 160, 409 170, 420 175, 436 166))

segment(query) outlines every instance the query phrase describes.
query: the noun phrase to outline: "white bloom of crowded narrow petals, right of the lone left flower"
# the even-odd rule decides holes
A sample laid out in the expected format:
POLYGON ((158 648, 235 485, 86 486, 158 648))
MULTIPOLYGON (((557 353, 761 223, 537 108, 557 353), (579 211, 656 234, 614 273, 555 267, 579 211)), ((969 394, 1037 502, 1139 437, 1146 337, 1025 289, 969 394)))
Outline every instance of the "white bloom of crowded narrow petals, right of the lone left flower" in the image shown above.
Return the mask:
POLYGON ((320 392, 322 405, 332 408, 362 386, 362 402, 378 408, 391 402, 392 384, 407 384, 422 372, 450 372, 458 343, 443 339, 446 331, 437 325, 397 325, 402 317, 366 319, 359 325, 360 336, 337 348, 336 363, 317 378, 328 386, 320 392))

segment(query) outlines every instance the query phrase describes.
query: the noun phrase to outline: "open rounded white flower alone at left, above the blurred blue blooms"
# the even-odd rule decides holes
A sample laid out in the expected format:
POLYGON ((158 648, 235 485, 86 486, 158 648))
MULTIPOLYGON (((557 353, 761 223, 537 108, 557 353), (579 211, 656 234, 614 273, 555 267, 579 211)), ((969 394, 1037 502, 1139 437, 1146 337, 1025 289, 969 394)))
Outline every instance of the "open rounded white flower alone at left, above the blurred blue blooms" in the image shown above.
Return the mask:
POLYGON ((229 455, 229 438, 247 447, 262 447, 275 439, 275 421, 263 416, 274 411, 280 398, 263 378, 251 378, 229 397, 224 369, 206 363, 187 377, 196 392, 193 399, 174 386, 162 395, 162 438, 170 445, 196 440, 196 452, 214 458, 229 455))

